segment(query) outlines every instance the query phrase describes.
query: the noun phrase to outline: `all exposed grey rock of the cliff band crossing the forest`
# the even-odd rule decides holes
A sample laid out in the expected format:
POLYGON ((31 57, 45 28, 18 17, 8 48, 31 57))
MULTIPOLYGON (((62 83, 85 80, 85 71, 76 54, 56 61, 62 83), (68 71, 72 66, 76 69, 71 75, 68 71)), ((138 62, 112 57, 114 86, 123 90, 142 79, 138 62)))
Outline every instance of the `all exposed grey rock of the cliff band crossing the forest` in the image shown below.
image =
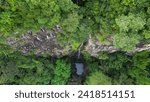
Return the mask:
MULTIPOLYGON (((35 55, 48 54, 50 56, 62 57, 65 55, 70 55, 71 49, 61 47, 56 40, 58 33, 63 33, 62 28, 56 25, 50 30, 41 29, 39 32, 32 33, 28 31, 26 34, 22 35, 20 38, 8 38, 7 43, 17 51, 21 51, 23 54, 28 55, 30 53, 35 55)), ((83 42, 84 43, 84 42, 83 42)), ((105 45, 99 41, 94 40, 89 36, 85 45, 83 43, 77 49, 79 54, 82 50, 89 52, 91 56, 97 57, 99 52, 117 52, 121 49, 115 48, 112 44, 105 45)), ((134 51, 127 52, 127 54, 132 55, 135 52, 140 52, 143 50, 150 51, 150 44, 141 45, 137 47, 134 51)))

